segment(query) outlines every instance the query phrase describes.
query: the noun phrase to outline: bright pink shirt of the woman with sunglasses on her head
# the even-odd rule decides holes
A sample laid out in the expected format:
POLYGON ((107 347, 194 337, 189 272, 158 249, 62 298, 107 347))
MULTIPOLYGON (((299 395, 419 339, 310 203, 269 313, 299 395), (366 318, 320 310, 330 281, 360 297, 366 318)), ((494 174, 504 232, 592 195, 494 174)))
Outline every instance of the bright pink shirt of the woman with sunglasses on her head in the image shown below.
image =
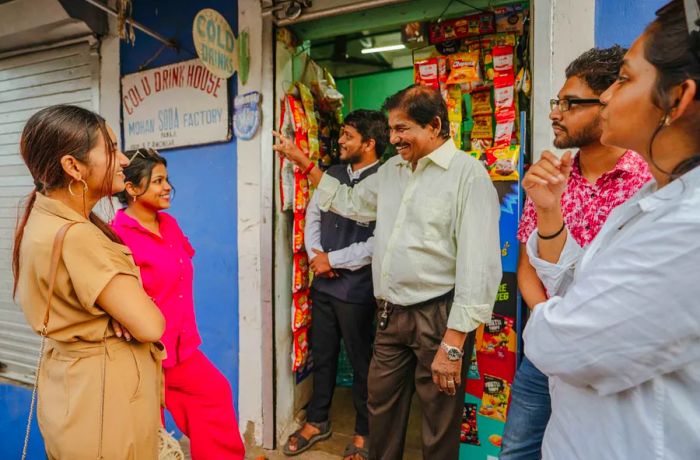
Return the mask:
POLYGON ((194 249, 172 216, 159 212, 158 219, 161 236, 124 210, 117 211, 112 228, 131 249, 144 289, 165 316, 161 342, 168 354, 163 367, 168 368, 197 351, 202 339, 194 316, 194 249))

